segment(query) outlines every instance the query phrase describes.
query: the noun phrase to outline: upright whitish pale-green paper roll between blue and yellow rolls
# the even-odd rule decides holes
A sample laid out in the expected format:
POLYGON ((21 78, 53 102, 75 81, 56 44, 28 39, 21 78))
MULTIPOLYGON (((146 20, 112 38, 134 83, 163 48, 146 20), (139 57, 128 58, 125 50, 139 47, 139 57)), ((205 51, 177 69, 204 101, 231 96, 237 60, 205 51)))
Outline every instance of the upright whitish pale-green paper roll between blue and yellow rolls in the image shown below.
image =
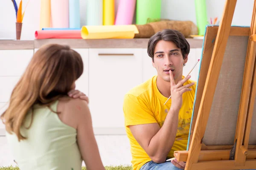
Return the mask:
POLYGON ((103 3, 102 0, 87 0, 87 26, 102 26, 103 3))

